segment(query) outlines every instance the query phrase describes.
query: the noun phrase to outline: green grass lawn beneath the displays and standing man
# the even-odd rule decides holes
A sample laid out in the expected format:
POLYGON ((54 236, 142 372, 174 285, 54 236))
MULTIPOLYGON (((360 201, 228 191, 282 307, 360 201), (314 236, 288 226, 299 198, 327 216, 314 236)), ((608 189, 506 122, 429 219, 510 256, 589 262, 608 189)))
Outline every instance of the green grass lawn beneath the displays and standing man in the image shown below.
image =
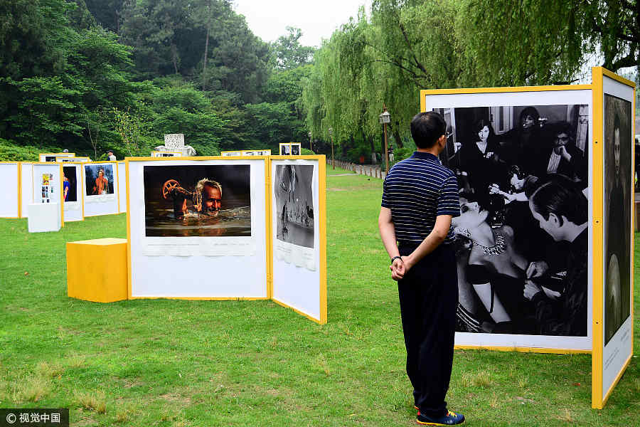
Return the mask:
MULTIPOLYGON (((68 407, 73 426, 415 425, 382 181, 327 172, 323 326, 270 301, 73 300, 65 242, 126 237, 124 214, 58 233, 0 220, 0 407, 68 407)), ((590 355, 457 351, 447 401, 468 426, 631 426, 639 374, 634 358, 596 411, 590 355)))

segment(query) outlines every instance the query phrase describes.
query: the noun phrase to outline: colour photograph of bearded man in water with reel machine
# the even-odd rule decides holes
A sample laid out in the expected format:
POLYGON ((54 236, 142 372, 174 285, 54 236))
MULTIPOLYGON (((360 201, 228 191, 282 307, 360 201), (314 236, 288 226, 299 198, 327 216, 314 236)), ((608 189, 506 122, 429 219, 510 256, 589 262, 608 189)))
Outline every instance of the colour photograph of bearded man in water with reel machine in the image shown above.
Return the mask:
POLYGON ((251 236, 250 165, 144 167, 145 236, 251 236))

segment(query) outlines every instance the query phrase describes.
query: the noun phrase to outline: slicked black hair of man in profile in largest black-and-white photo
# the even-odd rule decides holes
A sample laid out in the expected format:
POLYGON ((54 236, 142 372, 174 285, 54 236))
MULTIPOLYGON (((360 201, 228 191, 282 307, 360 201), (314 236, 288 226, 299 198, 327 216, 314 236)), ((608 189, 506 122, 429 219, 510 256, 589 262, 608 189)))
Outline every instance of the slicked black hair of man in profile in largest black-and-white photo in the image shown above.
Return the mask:
POLYGON ((530 198, 533 209, 547 221, 555 214, 562 226, 562 216, 580 226, 587 222, 587 198, 571 179, 554 175, 550 181, 535 190, 530 198))

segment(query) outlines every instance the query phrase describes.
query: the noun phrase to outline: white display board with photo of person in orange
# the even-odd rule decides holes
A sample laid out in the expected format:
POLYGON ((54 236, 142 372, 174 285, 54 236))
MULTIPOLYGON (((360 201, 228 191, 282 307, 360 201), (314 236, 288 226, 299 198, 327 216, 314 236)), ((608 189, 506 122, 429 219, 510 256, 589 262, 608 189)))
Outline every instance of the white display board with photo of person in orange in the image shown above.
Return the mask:
POLYGON ((85 216, 118 214, 117 162, 82 163, 85 216))

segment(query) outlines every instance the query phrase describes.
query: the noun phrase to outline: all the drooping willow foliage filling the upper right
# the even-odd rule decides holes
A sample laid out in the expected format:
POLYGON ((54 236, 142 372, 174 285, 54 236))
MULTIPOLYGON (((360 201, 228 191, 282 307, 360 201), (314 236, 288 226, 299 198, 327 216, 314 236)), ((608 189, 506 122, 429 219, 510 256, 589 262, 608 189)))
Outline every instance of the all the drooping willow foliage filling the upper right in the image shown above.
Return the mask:
POLYGON ((314 56, 306 125, 325 139, 333 128, 340 155, 380 152, 386 105, 403 147, 421 89, 588 81, 587 62, 637 78, 636 0, 373 0, 314 56))

